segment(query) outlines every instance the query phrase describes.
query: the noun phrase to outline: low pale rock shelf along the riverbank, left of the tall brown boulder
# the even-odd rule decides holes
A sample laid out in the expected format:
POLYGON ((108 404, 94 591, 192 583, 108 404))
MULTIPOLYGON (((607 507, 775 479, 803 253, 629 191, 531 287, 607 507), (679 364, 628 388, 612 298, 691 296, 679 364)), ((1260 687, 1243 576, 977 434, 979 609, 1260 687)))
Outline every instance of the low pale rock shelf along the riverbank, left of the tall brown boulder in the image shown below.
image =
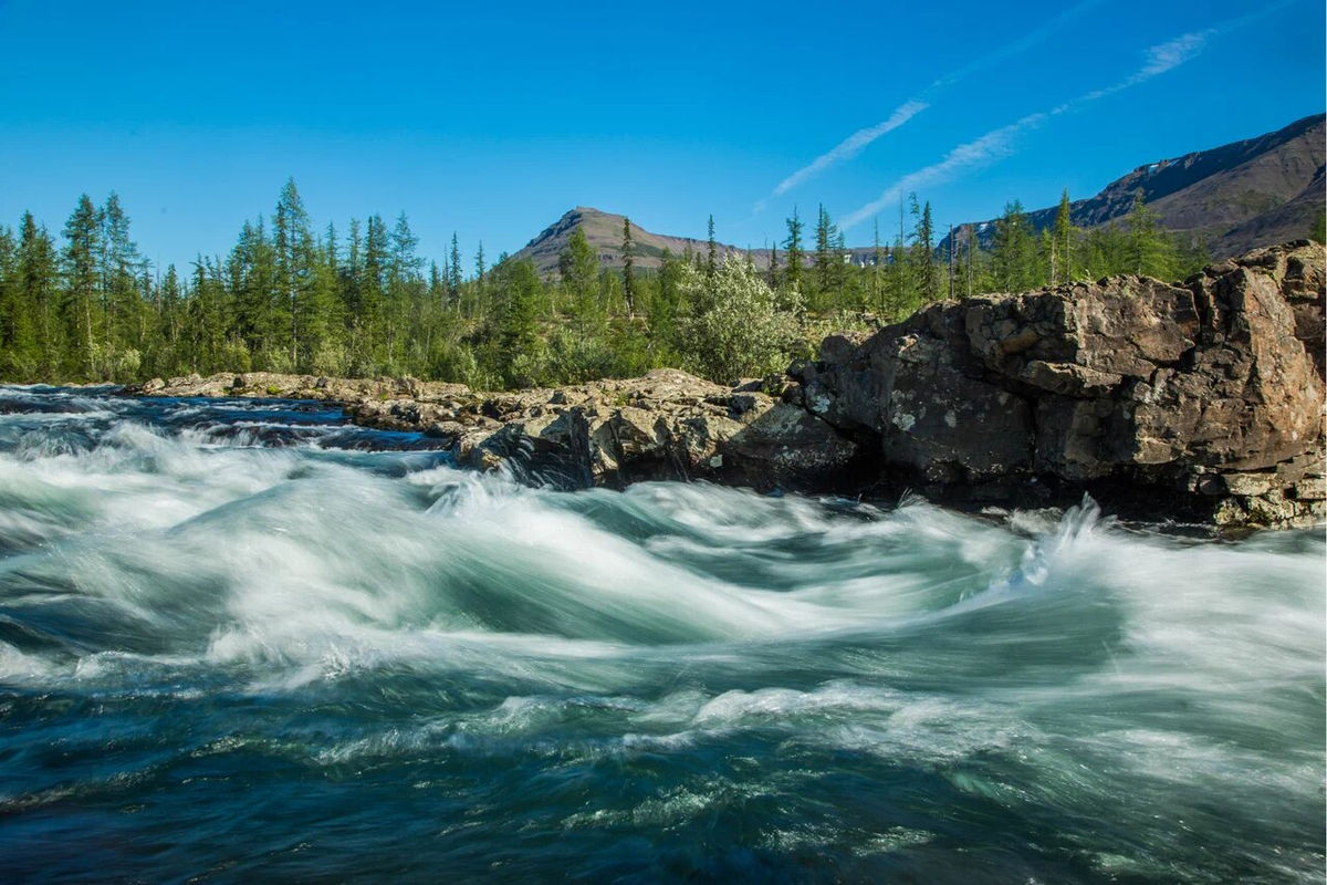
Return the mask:
POLYGON ((779 401, 786 381, 768 385, 726 387, 657 369, 640 378, 480 393, 414 378, 244 373, 158 378, 129 393, 333 401, 358 425, 443 439, 460 466, 561 488, 709 479, 815 491, 860 482, 856 442, 779 401))

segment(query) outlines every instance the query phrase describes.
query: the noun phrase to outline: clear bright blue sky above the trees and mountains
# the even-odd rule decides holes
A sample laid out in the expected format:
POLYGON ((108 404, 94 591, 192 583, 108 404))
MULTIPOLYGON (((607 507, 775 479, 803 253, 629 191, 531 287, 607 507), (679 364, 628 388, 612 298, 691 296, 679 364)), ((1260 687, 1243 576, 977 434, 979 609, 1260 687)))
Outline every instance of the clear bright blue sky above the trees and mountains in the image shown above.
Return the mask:
POLYGON ((1324 109, 1322 0, 442 4, 0 0, 0 220, 118 191, 165 264, 293 175, 318 224, 405 211, 515 251, 576 204, 760 247, 817 203, 884 239, 1088 196, 1324 109))

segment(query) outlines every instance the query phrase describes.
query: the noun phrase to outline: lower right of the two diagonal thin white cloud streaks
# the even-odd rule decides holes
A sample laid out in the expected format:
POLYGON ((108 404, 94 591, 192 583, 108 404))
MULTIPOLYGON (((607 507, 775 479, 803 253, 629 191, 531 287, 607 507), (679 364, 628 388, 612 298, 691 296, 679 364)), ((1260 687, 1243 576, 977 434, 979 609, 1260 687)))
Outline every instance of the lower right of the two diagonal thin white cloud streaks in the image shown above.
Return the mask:
MULTIPOLYGON (((1290 0, 1287 0, 1287 3, 1290 0)), ((1286 4, 1283 3, 1279 5, 1286 4)), ((1277 7, 1269 8, 1267 12, 1274 8, 1277 7)), ((921 187, 933 187, 936 184, 951 182, 969 170, 989 166, 997 161, 1010 157, 1014 153, 1018 135, 1024 130, 1039 126, 1051 117, 1078 110, 1083 105, 1097 101, 1099 98, 1105 98, 1107 96, 1113 96, 1117 92, 1129 89, 1131 86, 1137 86, 1139 84, 1147 82, 1148 80, 1164 74, 1168 70, 1173 70, 1201 53, 1210 37, 1235 27, 1235 24, 1247 24, 1254 17, 1261 17, 1261 15, 1245 16, 1243 19, 1238 19, 1234 23, 1227 23, 1222 27, 1196 31, 1176 37, 1174 40, 1168 40, 1166 42, 1149 46, 1144 53, 1143 66, 1120 82, 1105 86, 1104 89, 1093 89, 1092 92, 1072 98, 1063 105, 1052 107, 1051 110, 1028 114, 1016 122, 986 133, 977 141, 959 145, 954 150, 949 151, 941 162, 920 169, 916 172, 909 172, 890 184, 889 188, 886 188, 885 192, 877 199, 867 203, 856 212, 844 218, 843 222, 839 223, 840 230, 848 230, 849 227, 860 224, 872 215, 880 212, 882 208, 897 203, 905 194, 916 191, 921 187)))

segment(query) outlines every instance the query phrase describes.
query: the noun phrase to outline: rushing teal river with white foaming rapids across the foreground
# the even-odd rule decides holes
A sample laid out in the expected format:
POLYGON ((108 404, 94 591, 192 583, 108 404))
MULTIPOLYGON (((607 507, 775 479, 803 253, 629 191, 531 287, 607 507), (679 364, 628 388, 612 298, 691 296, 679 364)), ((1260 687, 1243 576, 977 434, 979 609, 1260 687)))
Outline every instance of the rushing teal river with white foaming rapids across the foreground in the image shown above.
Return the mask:
POLYGON ((1322 531, 0 389, 7 881, 1320 882, 1322 531))

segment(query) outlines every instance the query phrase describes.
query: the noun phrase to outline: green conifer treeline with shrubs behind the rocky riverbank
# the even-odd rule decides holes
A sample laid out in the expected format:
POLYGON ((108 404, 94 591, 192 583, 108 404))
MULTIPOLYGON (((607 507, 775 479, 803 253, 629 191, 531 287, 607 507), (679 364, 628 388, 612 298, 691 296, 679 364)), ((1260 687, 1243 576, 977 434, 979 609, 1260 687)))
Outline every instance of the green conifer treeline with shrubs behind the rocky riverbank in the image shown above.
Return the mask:
MULTIPOLYGON (((1018 292, 1115 272, 1172 279, 1200 265, 1141 200, 1123 224, 1078 231, 1066 195, 1035 232, 1011 204, 989 248, 973 230, 936 248, 930 204, 900 210, 892 243, 853 260, 823 208, 811 243, 794 212, 762 271, 750 255, 703 253, 600 265, 581 231, 541 279, 483 245, 463 261, 418 255, 402 214, 314 231, 288 182, 269 219, 247 222, 226 256, 154 268, 111 194, 80 198, 57 240, 32 214, 0 227, 0 377, 131 381, 212 372, 403 375, 476 387, 557 385, 681 366, 718 379, 782 369, 833 326, 906 316, 950 295, 1018 292), (468 264, 468 267, 466 267, 468 264)), ((857 253, 860 256, 860 251, 857 253)), ((764 263, 764 261, 763 261, 764 263)))

